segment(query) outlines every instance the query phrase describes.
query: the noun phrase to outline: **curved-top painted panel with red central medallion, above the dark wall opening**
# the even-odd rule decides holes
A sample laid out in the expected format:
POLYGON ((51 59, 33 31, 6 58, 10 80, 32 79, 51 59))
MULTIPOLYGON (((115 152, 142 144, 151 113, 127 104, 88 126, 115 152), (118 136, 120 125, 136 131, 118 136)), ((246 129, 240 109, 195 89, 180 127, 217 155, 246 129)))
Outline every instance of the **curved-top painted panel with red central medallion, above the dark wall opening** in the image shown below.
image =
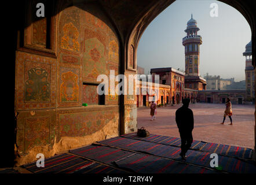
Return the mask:
POLYGON ((108 75, 108 64, 118 70, 119 46, 115 33, 107 24, 90 13, 84 13, 83 79, 90 82, 98 75, 108 75))

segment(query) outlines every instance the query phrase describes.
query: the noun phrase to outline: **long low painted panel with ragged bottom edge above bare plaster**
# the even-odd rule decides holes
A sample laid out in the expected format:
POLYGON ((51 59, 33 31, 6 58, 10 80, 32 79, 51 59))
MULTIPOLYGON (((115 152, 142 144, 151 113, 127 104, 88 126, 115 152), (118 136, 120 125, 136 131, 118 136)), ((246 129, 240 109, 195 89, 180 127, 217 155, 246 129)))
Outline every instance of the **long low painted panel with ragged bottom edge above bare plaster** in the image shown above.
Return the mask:
POLYGON ((118 121, 116 120, 116 117, 119 115, 118 110, 118 106, 58 110, 58 139, 64 136, 78 137, 91 135, 102 129, 109 121, 118 121))

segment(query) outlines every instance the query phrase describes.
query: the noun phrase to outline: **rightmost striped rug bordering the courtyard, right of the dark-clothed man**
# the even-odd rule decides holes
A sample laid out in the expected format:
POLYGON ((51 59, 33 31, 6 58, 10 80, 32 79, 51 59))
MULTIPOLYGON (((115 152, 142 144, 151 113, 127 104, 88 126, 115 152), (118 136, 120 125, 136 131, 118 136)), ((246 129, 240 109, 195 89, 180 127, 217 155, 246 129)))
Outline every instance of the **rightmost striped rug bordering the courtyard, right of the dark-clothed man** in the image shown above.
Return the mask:
POLYGON ((207 143, 206 145, 202 146, 200 150, 239 158, 251 158, 253 152, 252 149, 238 146, 222 145, 217 143, 207 143))

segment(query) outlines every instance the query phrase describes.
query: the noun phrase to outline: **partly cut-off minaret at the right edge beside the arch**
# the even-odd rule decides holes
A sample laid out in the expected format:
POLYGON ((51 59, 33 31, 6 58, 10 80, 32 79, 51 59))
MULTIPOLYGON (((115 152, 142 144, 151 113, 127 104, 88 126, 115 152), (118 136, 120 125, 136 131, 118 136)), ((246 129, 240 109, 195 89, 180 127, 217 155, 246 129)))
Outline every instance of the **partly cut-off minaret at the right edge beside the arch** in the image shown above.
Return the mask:
POLYGON ((243 53, 246 57, 246 101, 254 101, 255 72, 251 64, 251 41, 246 45, 246 51, 243 53))

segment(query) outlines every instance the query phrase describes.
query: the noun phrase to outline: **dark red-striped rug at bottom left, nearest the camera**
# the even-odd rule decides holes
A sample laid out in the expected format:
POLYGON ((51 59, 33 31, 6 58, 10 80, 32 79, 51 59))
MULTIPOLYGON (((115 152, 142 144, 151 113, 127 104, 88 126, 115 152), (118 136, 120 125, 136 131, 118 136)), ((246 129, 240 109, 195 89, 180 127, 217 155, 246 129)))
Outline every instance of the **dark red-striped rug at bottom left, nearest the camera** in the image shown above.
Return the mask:
POLYGON ((38 168, 36 162, 23 166, 33 173, 123 173, 115 168, 65 153, 46 158, 45 167, 38 168))

